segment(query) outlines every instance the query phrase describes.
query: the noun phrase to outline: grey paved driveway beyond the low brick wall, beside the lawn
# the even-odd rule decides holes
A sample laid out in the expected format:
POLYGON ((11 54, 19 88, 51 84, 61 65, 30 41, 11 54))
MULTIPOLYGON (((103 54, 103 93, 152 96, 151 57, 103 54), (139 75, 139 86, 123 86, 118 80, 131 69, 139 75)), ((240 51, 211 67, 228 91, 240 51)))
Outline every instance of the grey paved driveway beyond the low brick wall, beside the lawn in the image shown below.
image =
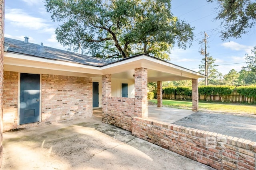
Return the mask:
POLYGON ((256 116, 196 112, 174 124, 256 141, 256 116))

